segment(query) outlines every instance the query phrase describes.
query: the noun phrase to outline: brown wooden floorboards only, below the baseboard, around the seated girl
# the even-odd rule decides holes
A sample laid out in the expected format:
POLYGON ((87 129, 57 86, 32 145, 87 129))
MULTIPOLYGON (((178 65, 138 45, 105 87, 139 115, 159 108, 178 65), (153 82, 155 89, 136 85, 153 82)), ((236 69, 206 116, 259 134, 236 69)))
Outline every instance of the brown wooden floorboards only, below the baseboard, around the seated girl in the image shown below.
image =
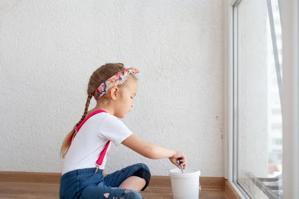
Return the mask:
MULTIPOLYGON (((58 199, 59 184, 0 182, 0 199, 58 199)), ((171 187, 150 185, 142 192, 145 199, 172 199, 171 187)), ((200 199, 226 199, 218 188, 202 188, 200 199)))

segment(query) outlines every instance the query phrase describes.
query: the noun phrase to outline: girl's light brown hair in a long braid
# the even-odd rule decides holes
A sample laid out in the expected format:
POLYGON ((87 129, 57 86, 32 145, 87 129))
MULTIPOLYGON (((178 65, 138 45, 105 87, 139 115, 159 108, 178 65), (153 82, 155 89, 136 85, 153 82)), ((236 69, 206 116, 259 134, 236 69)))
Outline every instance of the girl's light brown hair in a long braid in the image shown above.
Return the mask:
MULTIPOLYGON (((111 78, 112 76, 114 76, 115 74, 117 74, 120 71, 125 70, 126 68, 124 67, 124 64, 105 64, 103 66, 101 66, 100 68, 98 68, 95 72, 93 72, 93 74, 91 75, 90 79, 89 79, 89 83, 88 83, 88 88, 87 88, 87 100, 85 103, 85 109, 84 109, 84 113, 81 117, 81 119, 77 122, 77 124, 74 126, 74 128, 66 135, 66 137, 64 138, 62 145, 61 145, 61 149, 60 149, 60 157, 64 158, 70 145, 71 145, 71 141, 73 138, 73 135, 75 133, 75 129, 77 128, 77 126, 84 120, 84 118, 86 117, 86 114, 88 112, 88 107, 89 107, 89 103, 90 100, 92 99, 92 97, 95 95, 95 92, 97 90, 97 88, 106 80, 108 80, 109 78, 111 78)), ((129 75, 130 78, 133 78, 135 80, 137 80, 137 77, 133 74, 129 75)), ((126 81, 127 82, 127 81, 126 81)), ((126 84, 126 82, 124 82, 124 84, 122 84, 121 86, 124 86, 126 84)), ((104 95, 102 96, 98 102, 100 103, 105 103, 107 102, 109 99, 108 95, 104 95)))

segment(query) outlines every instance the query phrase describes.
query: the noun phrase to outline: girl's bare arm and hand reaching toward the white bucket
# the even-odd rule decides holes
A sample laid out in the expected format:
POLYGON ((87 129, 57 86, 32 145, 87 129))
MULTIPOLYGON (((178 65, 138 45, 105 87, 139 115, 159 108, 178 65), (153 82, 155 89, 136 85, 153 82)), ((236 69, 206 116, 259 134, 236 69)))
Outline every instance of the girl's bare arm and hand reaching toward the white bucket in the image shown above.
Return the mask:
POLYGON ((166 149, 162 146, 149 143, 142 138, 138 137, 136 134, 132 134, 127 139, 122 142, 123 145, 129 147, 130 149, 136 151, 137 153, 150 158, 150 159, 162 159, 169 158, 169 160, 177 167, 186 167, 186 157, 178 151, 173 151, 166 149), (181 158, 181 164, 177 163, 177 159, 181 158))

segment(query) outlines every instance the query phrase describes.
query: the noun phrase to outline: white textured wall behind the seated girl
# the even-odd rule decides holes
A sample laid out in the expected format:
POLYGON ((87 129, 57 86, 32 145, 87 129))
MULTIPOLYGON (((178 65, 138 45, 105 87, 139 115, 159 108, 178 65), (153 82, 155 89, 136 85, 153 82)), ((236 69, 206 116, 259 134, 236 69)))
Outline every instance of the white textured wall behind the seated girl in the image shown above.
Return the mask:
MULTIPOLYGON (((60 172, 90 75, 122 62, 141 71, 131 130, 221 176, 221 35, 221 0, 1 0, 0 170, 60 172)), ((114 147, 107 170, 138 162, 173 168, 114 147)))

